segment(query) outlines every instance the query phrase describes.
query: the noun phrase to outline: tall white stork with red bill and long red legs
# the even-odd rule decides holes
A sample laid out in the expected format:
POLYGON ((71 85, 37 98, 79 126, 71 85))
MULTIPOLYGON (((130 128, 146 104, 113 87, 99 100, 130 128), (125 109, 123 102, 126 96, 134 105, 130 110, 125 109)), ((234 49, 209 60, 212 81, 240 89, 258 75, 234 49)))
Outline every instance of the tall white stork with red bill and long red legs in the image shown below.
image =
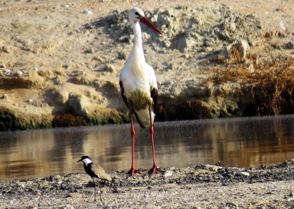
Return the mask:
POLYGON ((162 33, 145 17, 144 12, 139 8, 132 8, 129 19, 134 31, 134 45, 128 59, 121 68, 119 75, 119 85, 124 102, 130 110, 131 135, 132 135, 132 166, 127 172, 133 176, 136 171, 134 167, 134 136, 132 114, 135 114, 141 128, 150 126, 150 135, 153 151, 153 167, 149 170, 151 174, 161 171, 155 163, 154 144, 153 144, 153 120, 155 117, 154 109, 157 105, 157 83, 153 68, 145 61, 142 47, 142 32, 139 22, 144 23, 159 34, 162 33))

